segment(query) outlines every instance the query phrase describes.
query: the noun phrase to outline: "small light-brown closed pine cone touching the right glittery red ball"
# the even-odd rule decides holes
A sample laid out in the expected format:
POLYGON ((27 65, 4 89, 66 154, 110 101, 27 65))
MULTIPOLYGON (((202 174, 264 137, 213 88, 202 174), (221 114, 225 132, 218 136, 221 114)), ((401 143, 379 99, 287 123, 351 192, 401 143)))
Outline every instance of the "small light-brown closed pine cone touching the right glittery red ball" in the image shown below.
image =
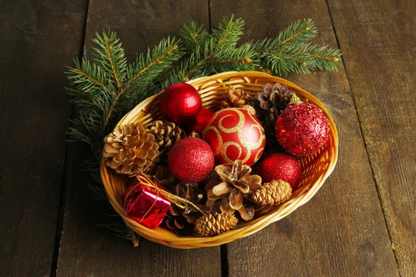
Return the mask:
POLYGON ((291 185, 282 180, 272 180, 254 190, 252 201, 259 206, 279 206, 292 197, 291 185))

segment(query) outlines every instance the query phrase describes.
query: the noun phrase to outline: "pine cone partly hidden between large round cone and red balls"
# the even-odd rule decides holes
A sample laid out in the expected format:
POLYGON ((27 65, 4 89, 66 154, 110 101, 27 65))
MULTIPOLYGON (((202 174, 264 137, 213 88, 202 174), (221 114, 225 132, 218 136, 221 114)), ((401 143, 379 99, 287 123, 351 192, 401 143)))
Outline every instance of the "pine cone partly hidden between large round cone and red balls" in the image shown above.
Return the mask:
POLYGON ((146 126, 146 132, 155 136, 161 154, 166 153, 174 143, 187 136, 175 123, 167 120, 156 120, 146 126))

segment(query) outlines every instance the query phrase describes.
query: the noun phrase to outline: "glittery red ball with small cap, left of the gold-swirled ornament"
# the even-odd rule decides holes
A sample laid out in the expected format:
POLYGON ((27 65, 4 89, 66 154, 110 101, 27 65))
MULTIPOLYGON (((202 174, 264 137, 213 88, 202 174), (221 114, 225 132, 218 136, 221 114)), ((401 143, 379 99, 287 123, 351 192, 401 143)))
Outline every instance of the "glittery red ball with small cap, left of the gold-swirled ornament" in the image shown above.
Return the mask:
POLYGON ((196 183, 202 181, 214 168, 214 153, 208 143, 198 138, 177 141, 168 157, 172 174, 180 181, 196 183))

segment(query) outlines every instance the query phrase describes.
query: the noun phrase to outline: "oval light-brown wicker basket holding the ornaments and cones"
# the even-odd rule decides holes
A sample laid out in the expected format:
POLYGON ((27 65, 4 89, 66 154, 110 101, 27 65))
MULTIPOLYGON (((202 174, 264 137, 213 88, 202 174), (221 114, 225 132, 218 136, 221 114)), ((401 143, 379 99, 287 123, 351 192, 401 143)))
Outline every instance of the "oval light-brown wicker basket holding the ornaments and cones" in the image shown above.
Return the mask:
MULTIPOLYGON (((251 235, 268 226, 268 224, 281 220, 281 218, 295 211, 297 207, 308 202, 322 184, 324 184, 325 179, 331 174, 338 158, 338 134, 336 132, 336 127, 331 116, 329 116, 327 109, 325 109, 324 105, 322 105, 317 98, 287 80, 255 71, 220 73, 191 80, 188 83, 193 85, 193 87, 196 87, 199 91, 202 97, 203 107, 216 110, 216 108, 218 108, 218 102, 221 96, 227 92, 229 84, 234 87, 241 87, 245 91, 251 91, 255 94, 261 90, 261 87, 263 87, 264 84, 274 84, 276 82, 286 84, 288 89, 295 91, 302 101, 310 102, 320 107, 329 119, 330 125, 330 136, 327 145, 324 145, 318 153, 300 159, 303 178, 299 188, 297 188, 293 198, 289 202, 279 206, 275 211, 272 211, 272 213, 269 213, 268 215, 263 215, 262 217, 246 223, 240 229, 228 231, 213 238, 178 237, 174 233, 160 227, 155 230, 148 229, 135 222, 135 220, 131 220, 127 217, 123 209, 123 203, 121 202, 121 195, 123 195, 125 189, 128 187, 128 179, 123 175, 116 174, 102 162, 101 178, 103 179, 105 191, 110 199, 110 203, 117 213, 123 217, 125 223, 144 238, 152 240, 153 242, 165 244, 168 247, 214 247, 251 235)), ((159 95, 160 93, 141 102, 120 120, 119 125, 128 123, 147 124, 152 120, 161 118, 162 114, 157 105, 159 102, 159 95)))

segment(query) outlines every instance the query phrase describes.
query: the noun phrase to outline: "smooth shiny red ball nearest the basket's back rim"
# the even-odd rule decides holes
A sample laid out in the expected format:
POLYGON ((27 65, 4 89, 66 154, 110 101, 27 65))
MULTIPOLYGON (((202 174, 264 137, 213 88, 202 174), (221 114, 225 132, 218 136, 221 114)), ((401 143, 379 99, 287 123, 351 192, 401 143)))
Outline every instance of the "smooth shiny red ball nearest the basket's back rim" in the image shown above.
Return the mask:
POLYGON ((181 124, 196 118, 202 107, 202 99, 190 84, 178 82, 164 90, 159 105, 168 120, 181 124))

